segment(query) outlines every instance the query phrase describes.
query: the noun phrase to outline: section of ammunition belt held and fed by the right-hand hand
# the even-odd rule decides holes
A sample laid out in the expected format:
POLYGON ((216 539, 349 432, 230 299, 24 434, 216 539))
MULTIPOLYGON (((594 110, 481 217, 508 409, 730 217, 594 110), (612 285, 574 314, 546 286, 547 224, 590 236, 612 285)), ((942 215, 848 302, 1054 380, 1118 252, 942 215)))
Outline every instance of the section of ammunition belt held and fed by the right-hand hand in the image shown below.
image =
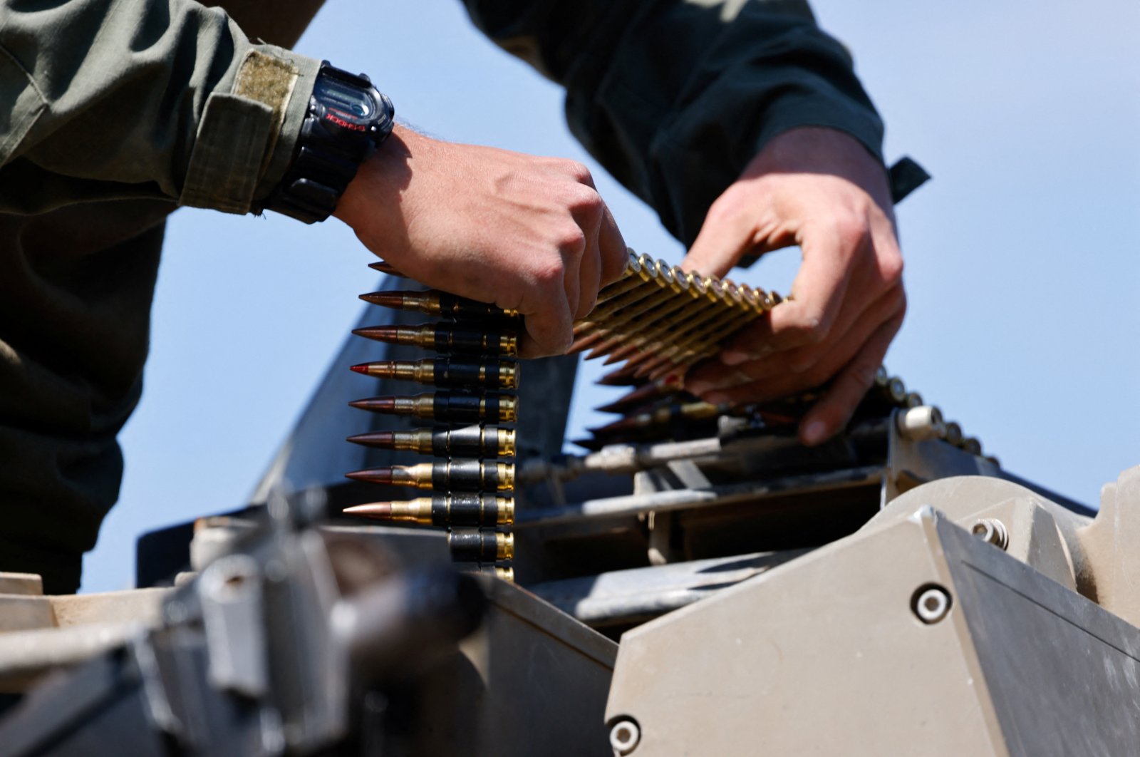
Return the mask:
MULTIPOLYGON (((682 384, 690 366, 716 355, 726 340, 782 300, 747 284, 701 277, 630 252, 622 277, 603 288, 593 312, 575 324, 570 350, 589 350, 587 360, 606 357, 606 365, 624 361, 598 383, 634 389, 597 408, 622 417, 589 429, 591 438, 575 443, 596 450, 610 443, 697 438, 715 434, 723 416, 768 428, 797 423, 825 388, 775 402, 730 406, 703 402, 682 384)), ((880 367, 856 417, 923 405, 921 394, 907 391, 902 378, 880 367)), ((982 443, 966 437, 958 423, 944 422, 937 407, 930 408, 928 422, 945 441, 982 455, 982 443)))

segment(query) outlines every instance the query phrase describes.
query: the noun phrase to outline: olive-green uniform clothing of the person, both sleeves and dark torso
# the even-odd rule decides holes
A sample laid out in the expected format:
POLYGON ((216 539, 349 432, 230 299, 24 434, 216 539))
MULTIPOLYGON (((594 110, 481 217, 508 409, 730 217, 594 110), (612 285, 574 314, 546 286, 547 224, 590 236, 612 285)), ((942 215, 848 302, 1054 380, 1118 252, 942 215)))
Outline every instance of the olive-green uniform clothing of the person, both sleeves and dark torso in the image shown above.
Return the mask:
MULTIPOLYGON (((320 1, 0 0, 0 570, 76 589, 119 493, 164 219, 259 212, 319 62, 251 40, 292 44, 320 1)), ((686 243, 780 131, 879 153, 850 59, 801 1, 466 6, 567 88, 575 135, 686 243)))

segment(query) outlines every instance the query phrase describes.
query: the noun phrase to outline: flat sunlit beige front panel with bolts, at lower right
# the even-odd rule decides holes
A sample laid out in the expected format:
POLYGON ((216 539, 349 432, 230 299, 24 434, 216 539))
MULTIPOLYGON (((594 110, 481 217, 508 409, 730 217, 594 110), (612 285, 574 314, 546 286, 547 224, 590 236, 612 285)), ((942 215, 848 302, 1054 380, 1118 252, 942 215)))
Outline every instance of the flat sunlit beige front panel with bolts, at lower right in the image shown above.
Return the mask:
MULTIPOLYGON (((622 637, 606 719, 642 755, 1004 755, 933 511, 854 535, 622 637)), ((995 551, 996 552, 996 551, 995 551)))

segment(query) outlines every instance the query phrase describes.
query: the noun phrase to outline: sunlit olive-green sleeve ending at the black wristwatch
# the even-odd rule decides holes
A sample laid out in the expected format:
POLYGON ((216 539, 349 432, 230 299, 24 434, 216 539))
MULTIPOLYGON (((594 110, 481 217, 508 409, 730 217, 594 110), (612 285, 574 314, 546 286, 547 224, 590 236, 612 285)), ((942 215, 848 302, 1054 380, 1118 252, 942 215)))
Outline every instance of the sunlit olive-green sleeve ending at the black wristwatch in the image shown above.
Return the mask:
POLYGON ((0 212, 249 212, 284 174, 318 66, 193 0, 0 0, 0 212))

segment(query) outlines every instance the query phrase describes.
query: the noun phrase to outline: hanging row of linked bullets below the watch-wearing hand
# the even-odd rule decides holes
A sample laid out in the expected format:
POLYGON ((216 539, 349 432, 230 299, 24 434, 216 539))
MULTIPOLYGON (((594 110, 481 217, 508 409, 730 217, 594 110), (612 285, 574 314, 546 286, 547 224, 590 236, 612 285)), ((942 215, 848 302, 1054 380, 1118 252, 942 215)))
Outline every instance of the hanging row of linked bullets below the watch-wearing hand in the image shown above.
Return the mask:
MULTIPOLYGON (((372 268, 404 277, 386 262, 372 268)), ((407 277, 404 277, 407 278, 407 277)), ((382 360, 351 366, 375 378, 408 381, 439 391, 352 400, 352 407, 435 423, 410 431, 373 431, 349 437, 366 447, 431 455, 432 463, 389 465, 345 475, 356 481, 430 489, 431 496, 374 502, 344 510, 374 520, 448 529, 451 557, 472 569, 513 580, 503 564, 514 557, 515 430, 518 420, 519 314, 447 292, 399 291, 361 294, 370 304, 435 316, 420 326, 372 326, 352 333, 389 344, 437 352, 421 360, 382 360)))

